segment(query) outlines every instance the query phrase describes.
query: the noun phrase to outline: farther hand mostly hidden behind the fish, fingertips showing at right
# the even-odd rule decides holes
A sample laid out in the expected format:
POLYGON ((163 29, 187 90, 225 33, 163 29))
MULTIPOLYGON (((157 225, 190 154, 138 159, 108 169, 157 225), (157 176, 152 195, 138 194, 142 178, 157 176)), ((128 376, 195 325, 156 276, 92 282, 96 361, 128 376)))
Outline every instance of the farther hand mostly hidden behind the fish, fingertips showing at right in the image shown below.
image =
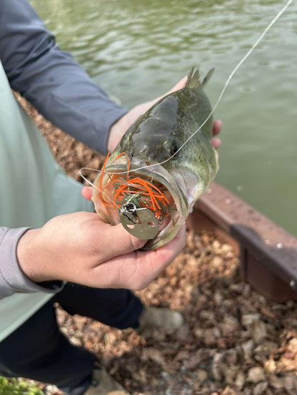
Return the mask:
MULTIPOLYGON (((166 96, 168 95, 168 93, 172 93, 178 91, 178 89, 183 88, 186 83, 186 79, 187 77, 183 77, 181 81, 179 81, 175 86, 173 86, 170 91, 165 93, 165 95, 163 96, 166 96)), ((111 126, 111 130, 109 132, 109 140, 107 142, 107 149, 110 153, 114 151, 116 145, 118 145, 124 133, 128 128, 130 128, 132 123, 134 123, 136 119, 139 118, 139 116, 148 111, 148 108, 151 108, 151 106, 153 106, 153 104, 160 100, 163 96, 160 96, 152 101, 147 101, 146 103, 139 104, 139 106, 132 108, 128 113, 122 116, 119 120, 116 121, 116 123, 114 123, 114 125, 111 126)), ((221 127, 221 120, 215 120, 213 122, 213 136, 220 133, 221 127)), ((218 149, 221 145, 221 140, 219 138, 213 138, 211 142, 213 143, 213 147, 216 149, 218 149)))

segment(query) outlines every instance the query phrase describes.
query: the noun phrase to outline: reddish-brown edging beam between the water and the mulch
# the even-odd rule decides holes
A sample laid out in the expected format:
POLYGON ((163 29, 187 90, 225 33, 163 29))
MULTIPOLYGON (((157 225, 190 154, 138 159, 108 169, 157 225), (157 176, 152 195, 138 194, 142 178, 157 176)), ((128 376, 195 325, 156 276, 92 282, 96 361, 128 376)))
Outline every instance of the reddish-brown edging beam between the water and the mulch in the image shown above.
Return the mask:
POLYGON ((218 183, 198 199, 187 226, 231 243, 243 280, 274 302, 297 299, 297 239, 218 183))

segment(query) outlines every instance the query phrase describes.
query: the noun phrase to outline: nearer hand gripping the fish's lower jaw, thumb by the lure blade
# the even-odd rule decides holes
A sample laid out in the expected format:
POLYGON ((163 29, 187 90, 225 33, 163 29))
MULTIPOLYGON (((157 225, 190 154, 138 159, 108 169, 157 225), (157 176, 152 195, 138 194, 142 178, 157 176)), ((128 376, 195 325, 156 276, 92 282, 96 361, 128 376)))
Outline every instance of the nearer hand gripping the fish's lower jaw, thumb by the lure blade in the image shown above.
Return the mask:
POLYGON ((19 240, 17 257, 33 282, 61 279, 98 288, 145 288, 178 255, 185 227, 167 245, 140 251, 145 240, 91 212, 54 217, 28 230, 19 240))

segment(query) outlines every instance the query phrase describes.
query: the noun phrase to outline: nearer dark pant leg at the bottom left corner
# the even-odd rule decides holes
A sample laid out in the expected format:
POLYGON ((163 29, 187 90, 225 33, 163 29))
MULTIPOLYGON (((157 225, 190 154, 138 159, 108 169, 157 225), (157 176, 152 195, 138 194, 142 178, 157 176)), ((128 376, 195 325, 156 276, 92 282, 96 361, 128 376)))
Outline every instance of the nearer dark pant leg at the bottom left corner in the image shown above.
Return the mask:
POLYGON ((52 299, 0 343, 0 375, 56 384, 68 395, 84 394, 94 360, 61 334, 52 299))

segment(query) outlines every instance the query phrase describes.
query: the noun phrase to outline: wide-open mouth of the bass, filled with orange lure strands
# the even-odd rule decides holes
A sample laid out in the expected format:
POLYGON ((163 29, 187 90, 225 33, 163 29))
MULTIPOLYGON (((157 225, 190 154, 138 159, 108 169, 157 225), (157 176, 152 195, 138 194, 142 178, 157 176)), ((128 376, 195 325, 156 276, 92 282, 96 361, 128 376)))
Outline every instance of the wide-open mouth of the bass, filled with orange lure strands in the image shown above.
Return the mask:
POLYGON ((168 170, 137 158, 132 158, 127 165, 125 155, 114 158, 112 154, 106 161, 94 181, 92 200, 101 219, 111 225, 119 224, 119 212, 127 201, 151 210, 160 226, 156 236, 146 242, 143 250, 155 250, 171 241, 185 222, 189 210, 186 195, 168 170), (137 182, 141 185, 139 192, 137 182), (144 192, 145 187, 153 191, 156 201, 153 202, 149 190, 144 192))

